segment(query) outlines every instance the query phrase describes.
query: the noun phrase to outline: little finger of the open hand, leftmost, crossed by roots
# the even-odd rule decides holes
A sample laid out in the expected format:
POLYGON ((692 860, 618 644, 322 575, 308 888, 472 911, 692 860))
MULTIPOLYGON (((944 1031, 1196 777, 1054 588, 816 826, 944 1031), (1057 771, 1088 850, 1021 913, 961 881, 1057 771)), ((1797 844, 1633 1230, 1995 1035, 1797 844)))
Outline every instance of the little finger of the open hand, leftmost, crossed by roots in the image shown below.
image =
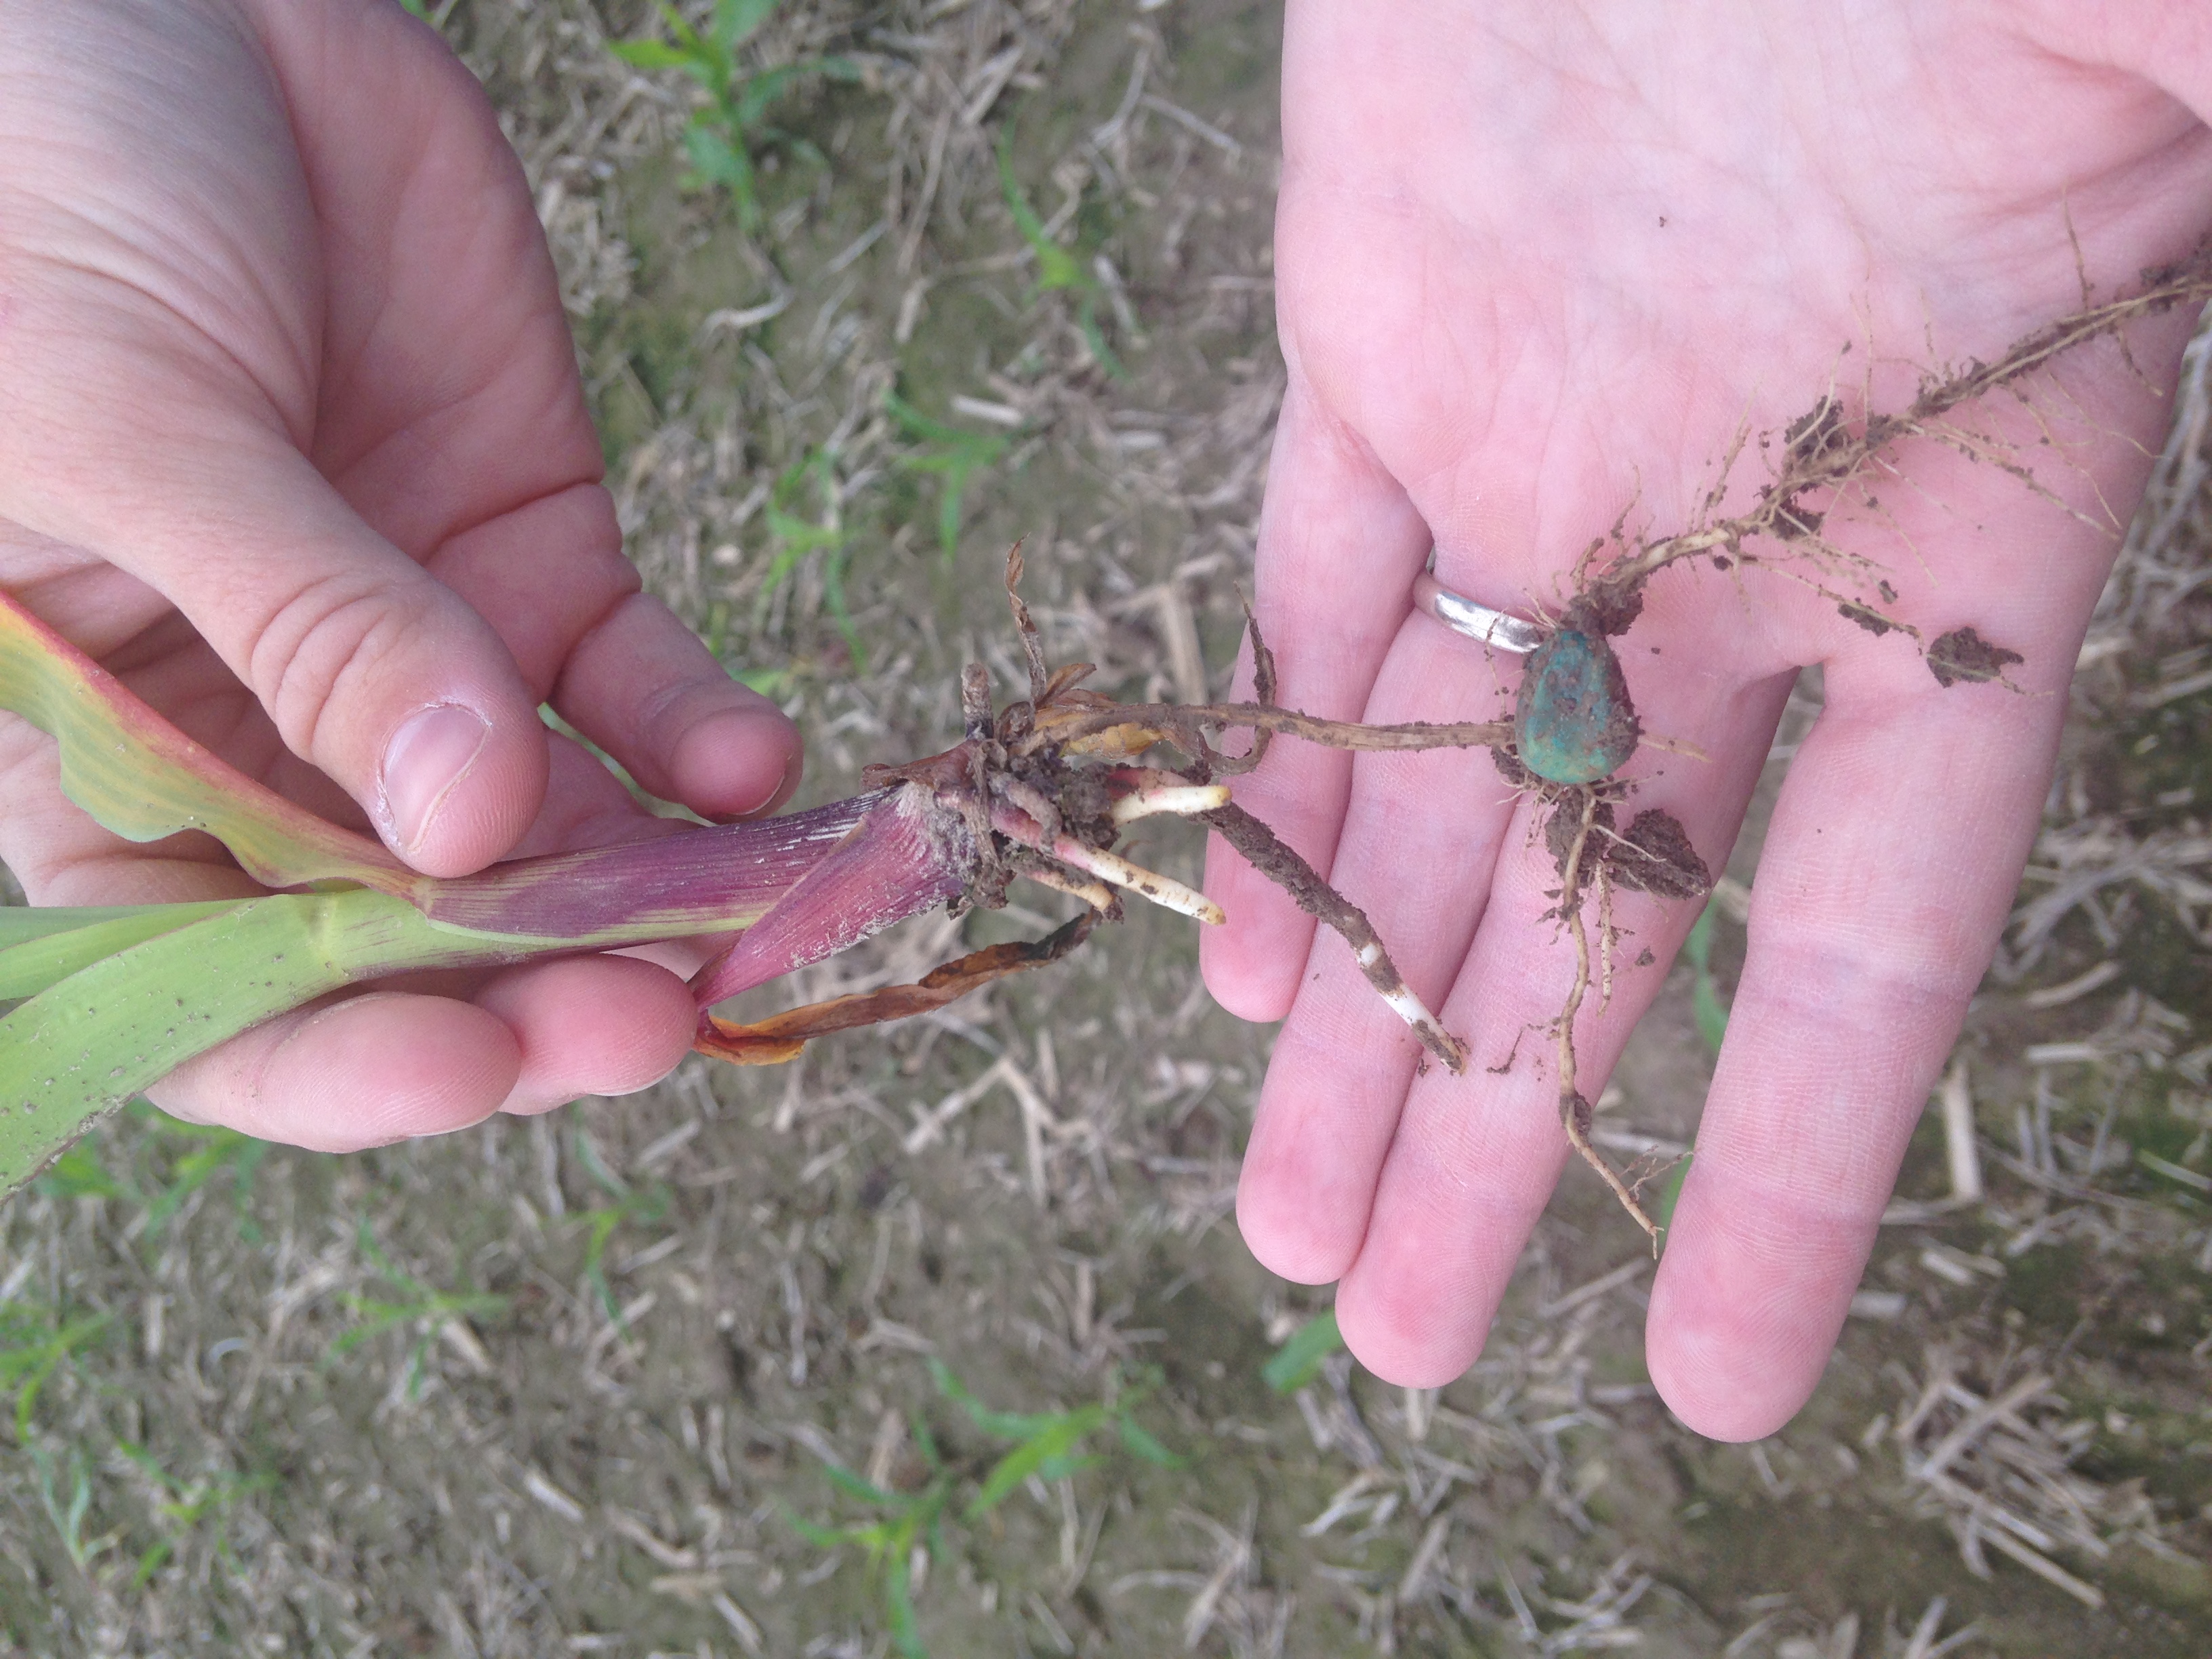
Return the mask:
MULTIPOLYGON (((1281 668, 1276 699, 1323 719, 1358 719, 1427 553, 1429 531, 1405 489, 1292 376, 1254 573, 1261 637, 1281 668)), ((1349 785, 1349 754, 1279 741, 1237 783, 1237 801, 1327 869, 1349 785)), ((1281 1020, 1312 947, 1312 918, 1219 836, 1206 849, 1206 891, 1230 916, 1199 945, 1208 989, 1245 1020, 1281 1020)))

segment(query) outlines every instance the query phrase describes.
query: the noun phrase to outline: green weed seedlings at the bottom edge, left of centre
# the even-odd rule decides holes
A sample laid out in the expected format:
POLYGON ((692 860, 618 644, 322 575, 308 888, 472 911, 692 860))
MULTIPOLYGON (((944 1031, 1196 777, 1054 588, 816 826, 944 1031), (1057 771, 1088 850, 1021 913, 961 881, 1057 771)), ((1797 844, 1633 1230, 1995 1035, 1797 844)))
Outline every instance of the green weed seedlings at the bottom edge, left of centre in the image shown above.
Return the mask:
MULTIPOLYGON (((942 1360, 929 1360, 929 1376, 938 1394, 960 1407, 991 1440, 1011 1440, 984 1471, 975 1493, 962 1506, 962 1517, 978 1522, 998 1509, 1018 1486, 1037 1478, 1044 1482, 1068 1480, 1082 1469, 1099 1462, 1097 1453, 1086 1453, 1084 1442, 1102 1429, 1113 1427, 1121 1447, 1144 1462, 1161 1469, 1179 1469, 1181 1458, 1168 1451, 1133 1416, 1137 1405, 1159 1387, 1159 1374, 1146 1374, 1135 1383, 1108 1389, 1108 1398, 1079 1405, 1071 1411, 993 1411, 978 1400, 942 1360)), ((843 1464, 825 1464, 830 1484, 847 1498, 856 1498, 878 1511, 878 1520, 854 1522, 849 1526, 821 1526, 801 1515, 790 1522, 810 1544, 841 1548, 858 1544, 867 1551, 869 1568, 883 1575, 883 1606, 891 1630, 891 1646, 905 1659, 929 1659, 922 1646, 920 1624, 914 1615, 914 1557, 920 1551, 933 1559, 945 1555, 945 1511, 951 1506, 956 1475, 938 1451, 929 1425, 920 1416, 909 1420, 914 1444, 922 1453, 927 1480, 911 1493, 885 1491, 863 1480, 843 1464)))

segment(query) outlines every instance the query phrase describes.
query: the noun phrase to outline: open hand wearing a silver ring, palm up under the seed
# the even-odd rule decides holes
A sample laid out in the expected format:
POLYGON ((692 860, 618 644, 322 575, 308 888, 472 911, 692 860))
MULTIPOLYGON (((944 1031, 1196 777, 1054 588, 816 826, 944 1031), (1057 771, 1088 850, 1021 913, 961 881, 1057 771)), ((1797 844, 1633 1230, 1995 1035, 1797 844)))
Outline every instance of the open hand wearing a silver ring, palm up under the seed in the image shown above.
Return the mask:
MULTIPOLYGON (((1431 540, 1447 588, 1557 613, 1617 520, 1686 526, 1741 429, 1778 431, 1832 387, 1902 407, 1933 358, 1991 358, 2077 310, 2084 281, 2108 294, 2188 254, 2212 199, 2212 31, 2150 11, 1292 4, 1290 387, 1256 573, 1281 701, 1493 714, 1517 668, 1411 613, 1431 540)), ((1644 730, 1712 757, 1646 748, 1630 810, 1670 810, 1714 867, 1798 666, 1825 666, 1650 1303, 1652 1380, 1703 1433, 1772 1433, 1820 1378, 2035 836, 2112 515, 2159 447, 2188 325, 2137 325, 2132 361, 2104 341, 2033 407, 1973 411, 2046 493, 1913 442, 1878 515, 1829 520, 1896 586, 1891 615, 2020 650, 2020 690, 1944 690, 1909 641, 1772 568, 1666 571, 1615 641, 1644 730)), ((1730 500, 1759 473, 1739 462, 1730 500)), ((1208 982, 1243 1018, 1287 1018, 1239 1223, 1274 1272, 1340 1281, 1369 1369, 1444 1383, 1566 1155, 1542 1033, 1573 949, 1546 918, 1559 874, 1535 803, 1480 750, 1294 743, 1239 799, 1473 1046, 1464 1077, 1418 1068, 1349 951, 1217 843, 1208 891, 1232 922, 1206 940, 1208 982)), ((1586 1095, 1694 914, 1615 900, 1613 1000, 1575 1024, 1586 1095)))

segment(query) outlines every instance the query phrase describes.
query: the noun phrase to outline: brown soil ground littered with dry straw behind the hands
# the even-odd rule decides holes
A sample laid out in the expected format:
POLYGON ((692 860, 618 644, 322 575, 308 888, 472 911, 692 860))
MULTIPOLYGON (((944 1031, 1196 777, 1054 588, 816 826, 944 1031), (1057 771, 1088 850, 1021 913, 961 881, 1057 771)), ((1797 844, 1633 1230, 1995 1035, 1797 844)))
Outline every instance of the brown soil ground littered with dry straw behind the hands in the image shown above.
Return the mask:
MULTIPOLYGON (((1221 688, 1283 378, 1274 7, 785 7, 765 62, 860 75, 774 106, 752 232, 681 181, 688 82, 606 51, 644 4, 431 9, 531 170, 635 557, 803 721, 805 803, 956 737, 969 657, 1020 684, 1018 535, 1055 659, 1133 701, 1221 688), (1002 137, 1075 254, 1060 292, 1002 137)), ((1579 1170, 1467 1378, 1407 1394, 1334 1356, 1272 1391, 1329 1294, 1261 1272, 1230 1214, 1270 1033, 1152 914, 781 1071, 690 1062, 349 1159, 115 1119, 0 1210, 0 1652, 883 1655, 887 1564, 821 1528, 896 1531, 936 1455, 942 1524, 891 1551, 936 1655, 2203 1655, 2203 347, 2192 376, 1960 1046, 1986 1197, 1955 1201, 1931 1110, 1778 1436, 1659 1407, 1644 1243, 1579 1170), (971 1515, 1006 1425, 931 1358, 998 1411, 1135 1398, 1177 1464, 1102 1429, 971 1515)), ((1617 1152, 1694 1133, 1699 1006, 1816 712, 1809 672, 1703 998, 1679 964, 1601 1102, 1617 1152)), ((1186 878, 1197 854, 1141 847, 1186 878)), ((765 1006, 1066 914, 1022 902, 765 1006)))

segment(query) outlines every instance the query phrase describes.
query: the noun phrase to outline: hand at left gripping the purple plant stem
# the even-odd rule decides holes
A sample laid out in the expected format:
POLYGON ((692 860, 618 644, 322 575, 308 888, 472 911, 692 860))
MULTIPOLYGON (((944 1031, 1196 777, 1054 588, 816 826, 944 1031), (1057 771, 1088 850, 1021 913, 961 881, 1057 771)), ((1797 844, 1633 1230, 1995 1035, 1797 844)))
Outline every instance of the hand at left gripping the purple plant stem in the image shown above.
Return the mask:
MULTIPOLYGON (((0 0, 0 584, 175 726, 434 876, 763 812, 799 741, 639 593, 553 265, 476 80, 392 0, 0 0)), ((124 843, 0 723, 33 902, 259 891, 124 843)), ((593 956, 272 1020, 155 1093, 343 1150, 664 1075, 593 956), (431 993, 436 991, 436 993, 431 993)))

